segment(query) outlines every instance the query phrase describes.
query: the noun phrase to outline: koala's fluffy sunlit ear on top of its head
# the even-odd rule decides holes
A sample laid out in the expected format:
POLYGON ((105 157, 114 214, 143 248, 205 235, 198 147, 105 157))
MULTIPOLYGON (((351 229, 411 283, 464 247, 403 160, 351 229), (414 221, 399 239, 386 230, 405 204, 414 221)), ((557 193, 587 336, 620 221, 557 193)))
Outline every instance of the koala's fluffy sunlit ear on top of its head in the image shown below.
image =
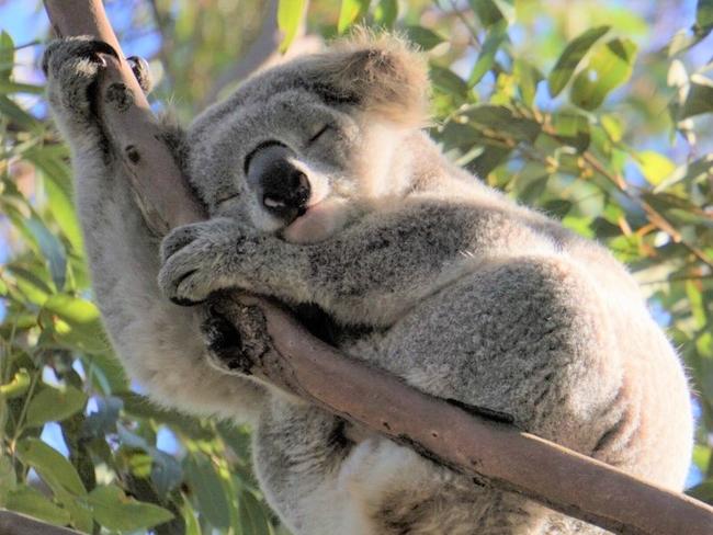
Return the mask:
POLYGON ((428 119, 426 61, 397 36, 356 30, 315 57, 315 84, 336 99, 406 126, 428 119))

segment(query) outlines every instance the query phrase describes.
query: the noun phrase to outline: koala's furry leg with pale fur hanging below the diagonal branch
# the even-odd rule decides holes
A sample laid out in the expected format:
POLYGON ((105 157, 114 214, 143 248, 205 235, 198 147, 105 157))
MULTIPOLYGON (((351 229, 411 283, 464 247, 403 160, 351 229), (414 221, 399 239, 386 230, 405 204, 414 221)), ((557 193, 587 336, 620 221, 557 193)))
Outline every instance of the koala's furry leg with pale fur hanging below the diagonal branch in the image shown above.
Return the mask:
POLYGON ((478 486, 411 448, 273 398, 253 435, 257 474, 295 535, 543 535, 540 506, 478 486), (535 514, 539 513, 539 514, 535 514))

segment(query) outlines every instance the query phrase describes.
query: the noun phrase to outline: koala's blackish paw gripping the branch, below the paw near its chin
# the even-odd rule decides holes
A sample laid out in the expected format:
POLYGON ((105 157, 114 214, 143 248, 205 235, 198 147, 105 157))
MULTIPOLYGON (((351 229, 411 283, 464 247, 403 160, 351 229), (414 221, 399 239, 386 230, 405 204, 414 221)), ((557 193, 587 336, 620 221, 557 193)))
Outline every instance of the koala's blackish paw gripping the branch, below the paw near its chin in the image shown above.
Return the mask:
POLYGON ((204 309, 201 333, 208 364, 229 374, 250 375, 252 366, 270 349, 262 312, 216 295, 204 309))

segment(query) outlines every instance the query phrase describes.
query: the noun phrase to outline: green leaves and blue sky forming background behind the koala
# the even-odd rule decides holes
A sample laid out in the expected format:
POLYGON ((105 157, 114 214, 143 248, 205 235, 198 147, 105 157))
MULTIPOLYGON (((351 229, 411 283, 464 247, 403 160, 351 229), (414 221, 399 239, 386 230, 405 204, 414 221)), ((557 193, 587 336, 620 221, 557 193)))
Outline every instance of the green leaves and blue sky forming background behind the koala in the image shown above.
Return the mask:
MULTIPOLYGON (((184 119, 237 81, 274 8, 107 2, 125 52, 150 59, 156 107, 184 119)), ((355 22, 407 33, 443 149, 629 263, 686 361, 688 492, 713 503, 713 1, 282 0, 276 20, 283 48, 355 22)), ((0 21, 0 506, 88 533, 283 533, 248 430, 150 405, 106 344, 43 102, 47 21, 21 0, 0 21)))

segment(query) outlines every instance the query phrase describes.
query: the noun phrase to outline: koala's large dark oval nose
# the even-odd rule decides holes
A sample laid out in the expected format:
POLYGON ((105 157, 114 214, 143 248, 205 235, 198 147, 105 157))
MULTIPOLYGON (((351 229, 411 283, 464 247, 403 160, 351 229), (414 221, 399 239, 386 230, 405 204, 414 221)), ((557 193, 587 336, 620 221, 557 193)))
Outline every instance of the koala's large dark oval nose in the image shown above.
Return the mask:
POLYGON ((246 162, 248 184, 265 210, 286 225, 303 215, 312 189, 292 161, 294 152, 276 141, 258 147, 246 162))

